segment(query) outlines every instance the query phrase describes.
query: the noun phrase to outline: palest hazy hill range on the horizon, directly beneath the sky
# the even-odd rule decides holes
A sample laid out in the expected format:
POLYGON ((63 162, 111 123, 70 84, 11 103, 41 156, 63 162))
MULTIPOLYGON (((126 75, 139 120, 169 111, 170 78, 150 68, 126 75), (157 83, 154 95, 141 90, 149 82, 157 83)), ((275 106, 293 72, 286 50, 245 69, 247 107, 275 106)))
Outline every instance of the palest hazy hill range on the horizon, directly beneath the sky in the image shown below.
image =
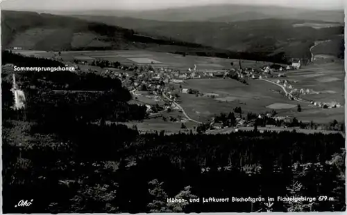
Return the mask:
MULTIPOLYGON (((294 7, 294 6, 293 6, 294 7)), ((307 10, 279 6, 209 5, 164 10, 89 10, 65 15, 105 15, 158 21, 246 21, 252 19, 309 19, 344 23, 344 10, 307 10)))

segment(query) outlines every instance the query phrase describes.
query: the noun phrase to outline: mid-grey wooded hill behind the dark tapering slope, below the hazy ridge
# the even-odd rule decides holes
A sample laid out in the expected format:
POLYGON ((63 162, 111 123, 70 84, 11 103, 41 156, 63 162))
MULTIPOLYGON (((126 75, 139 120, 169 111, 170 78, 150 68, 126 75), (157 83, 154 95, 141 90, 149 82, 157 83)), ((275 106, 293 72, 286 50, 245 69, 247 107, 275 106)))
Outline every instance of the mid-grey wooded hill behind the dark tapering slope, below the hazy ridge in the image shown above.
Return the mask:
MULTIPOLYGON (((298 19, 256 19, 251 21, 153 21, 130 17, 75 15, 88 21, 133 28, 143 35, 156 35, 204 46, 227 49, 233 52, 269 53, 284 52, 287 57, 310 58, 314 41, 326 40, 344 34, 344 26, 315 28, 312 22, 329 26, 323 21, 298 19), (297 27, 301 26, 301 27, 297 27)), ((341 37, 341 41, 344 39, 341 37)), ((340 50, 337 50, 340 52, 340 50)), ((341 56, 340 53, 337 56, 341 56)))

